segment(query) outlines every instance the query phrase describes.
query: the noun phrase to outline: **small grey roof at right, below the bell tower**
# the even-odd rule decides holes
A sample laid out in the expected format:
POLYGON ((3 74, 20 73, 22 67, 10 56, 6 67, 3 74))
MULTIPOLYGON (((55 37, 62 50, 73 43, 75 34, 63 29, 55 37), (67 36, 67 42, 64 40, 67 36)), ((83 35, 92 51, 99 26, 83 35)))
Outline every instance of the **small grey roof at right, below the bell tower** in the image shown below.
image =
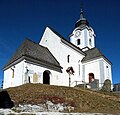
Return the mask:
POLYGON ((85 51, 86 56, 82 59, 82 62, 92 61, 98 58, 104 58, 108 63, 111 62, 103 55, 103 53, 98 48, 92 48, 85 51))

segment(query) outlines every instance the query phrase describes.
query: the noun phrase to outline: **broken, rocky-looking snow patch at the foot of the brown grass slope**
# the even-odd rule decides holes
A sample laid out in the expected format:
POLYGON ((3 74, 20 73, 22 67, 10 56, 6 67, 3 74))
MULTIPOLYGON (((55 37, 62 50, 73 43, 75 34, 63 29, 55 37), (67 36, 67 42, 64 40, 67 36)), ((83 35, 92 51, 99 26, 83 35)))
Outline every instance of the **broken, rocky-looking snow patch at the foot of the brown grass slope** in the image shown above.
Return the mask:
POLYGON ((69 112, 74 110, 74 107, 67 106, 65 104, 54 104, 51 101, 46 101, 45 104, 38 104, 38 105, 19 105, 18 107, 13 107, 12 110, 19 111, 19 112, 62 112, 64 110, 68 110, 69 112))

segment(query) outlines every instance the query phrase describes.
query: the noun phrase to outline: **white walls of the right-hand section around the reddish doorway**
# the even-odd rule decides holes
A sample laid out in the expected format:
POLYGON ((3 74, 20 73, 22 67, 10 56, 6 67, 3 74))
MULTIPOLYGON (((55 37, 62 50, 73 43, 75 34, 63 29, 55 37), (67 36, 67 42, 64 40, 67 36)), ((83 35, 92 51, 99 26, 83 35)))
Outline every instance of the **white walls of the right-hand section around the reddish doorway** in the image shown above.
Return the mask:
POLYGON ((94 61, 90 61, 87 63, 83 63, 84 70, 83 70, 83 78, 85 82, 89 81, 88 74, 94 73, 95 79, 99 79, 99 83, 103 84, 106 79, 110 79, 112 82, 112 72, 111 72, 111 65, 107 63, 103 58, 96 59, 94 61), (109 76, 107 75, 107 68, 109 68, 109 76))

